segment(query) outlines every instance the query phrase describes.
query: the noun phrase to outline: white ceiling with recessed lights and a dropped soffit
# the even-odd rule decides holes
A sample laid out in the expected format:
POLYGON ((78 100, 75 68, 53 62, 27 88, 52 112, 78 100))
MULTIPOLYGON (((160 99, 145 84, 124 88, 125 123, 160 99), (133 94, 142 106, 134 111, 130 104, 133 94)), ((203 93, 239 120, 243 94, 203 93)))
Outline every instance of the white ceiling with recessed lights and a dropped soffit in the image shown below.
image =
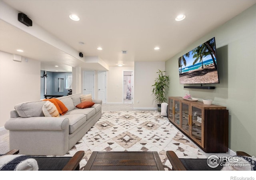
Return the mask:
POLYGON ((54 46, 0 20, 0 50, 40 60, 42 70, 66 72, 77 66, 84 70, 108 70, 118 63, 134 66, 136 61, 166 61, 256 0, 1 0, 1 3, 26 14, 33 21, 33 26, 26 28, 31 29, 35 24, 54 37, 51 39, 66 46, 54 46), (176 21, 181 13, 186 18, 176 21), (70 20, 70 14, 78 15, 80 21, 70 20), (160 49, 154 50, 156 46, 160 49), (97 50, 98 47, 102 50, 97 50), (122 50, 128 53, 122 54, 122 50), (78 56, 79 52, 84 58, 78 56))

